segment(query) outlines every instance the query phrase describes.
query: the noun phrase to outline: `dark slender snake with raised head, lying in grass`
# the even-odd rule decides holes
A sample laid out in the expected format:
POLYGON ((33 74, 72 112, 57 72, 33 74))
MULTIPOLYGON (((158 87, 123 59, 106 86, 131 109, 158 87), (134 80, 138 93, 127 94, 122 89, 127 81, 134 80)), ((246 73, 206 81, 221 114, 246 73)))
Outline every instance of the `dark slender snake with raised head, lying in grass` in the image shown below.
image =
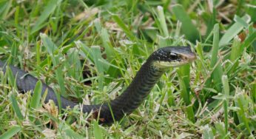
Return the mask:
MULTIPOLYGON (((189 64, 196 59, 195 52, 187 47, 161 47, 146 59, 144 64, 136 73, 129 86, 124 89, 117 98, 112 101, 103 102, 102 104, 80 105, 82 112, 94 114, 94 118, 98 118, 99 123, 110 124, 120 121, 124 115, 129 115, 140 106, 151 92, 151 89, 160 80, 161 75, 172 67, 180 67, 183 64, 189 64)), ((10 67, 13 75, 16 77, 16 87, 22 92, 29 92, 35 89, 38 78, 30 75, 18 67, 8 65, 7 62, 0 61, 0 70, 6 72, 6 67, 10 67)), ((41 95, 47 90, 44 103, 52 100, 58 106, 58 100, 53 88, 42 83, 41 95)), ((32 93, 33 95, 33 93, 32 93)), ((61 96, 61 108, 74 108, 78 105, 73 101, 61 96)))

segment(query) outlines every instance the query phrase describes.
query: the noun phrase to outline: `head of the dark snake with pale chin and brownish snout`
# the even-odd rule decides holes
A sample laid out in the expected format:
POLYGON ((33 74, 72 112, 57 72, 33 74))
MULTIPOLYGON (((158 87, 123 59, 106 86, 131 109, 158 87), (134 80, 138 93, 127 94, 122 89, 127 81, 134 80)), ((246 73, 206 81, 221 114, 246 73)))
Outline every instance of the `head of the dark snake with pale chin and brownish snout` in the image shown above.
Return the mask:
POLYGON ((155 67, 178 67, 196 59, 195 52, 190 47, 163 47, 150 55, 150 61, 155 67))

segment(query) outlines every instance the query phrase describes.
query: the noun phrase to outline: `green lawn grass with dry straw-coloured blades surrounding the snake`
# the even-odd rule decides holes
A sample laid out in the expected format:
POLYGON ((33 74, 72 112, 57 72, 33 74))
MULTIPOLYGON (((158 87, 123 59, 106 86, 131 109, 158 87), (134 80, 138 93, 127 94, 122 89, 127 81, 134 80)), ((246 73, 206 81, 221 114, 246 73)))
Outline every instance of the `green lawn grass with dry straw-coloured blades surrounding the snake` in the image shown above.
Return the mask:
POLYGON ((42 103, 40 82, 33 96, 20 94, 15 75, 1 72, 0 138, 255 138, 255 4, 0 1, 1 61, 58 97, 110 101, 158 47, 190 45, 198 55, 166 72, 135 112, 110 126, 42 103))

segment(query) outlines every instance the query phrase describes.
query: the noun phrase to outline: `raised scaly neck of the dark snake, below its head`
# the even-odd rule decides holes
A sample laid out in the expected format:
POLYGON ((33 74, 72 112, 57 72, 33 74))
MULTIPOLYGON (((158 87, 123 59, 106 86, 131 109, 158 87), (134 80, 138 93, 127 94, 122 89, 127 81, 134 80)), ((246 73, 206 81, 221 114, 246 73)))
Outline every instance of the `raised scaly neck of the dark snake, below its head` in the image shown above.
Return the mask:
POLYGON ((101 107, 101 112, 109 113, 108 116, 104 115, 104 120, 107 120, 105 123, 112 122, 110 109, 115 115, 115 120, 119 120, 124 114, 129 115, 129 113, 138 108, 164 72, 166 72, 166 69, 155 68, 152 61, 146 61, 129 87, 118 98, 101 107), (106 119, 107 117, 109 119, 106 119))

